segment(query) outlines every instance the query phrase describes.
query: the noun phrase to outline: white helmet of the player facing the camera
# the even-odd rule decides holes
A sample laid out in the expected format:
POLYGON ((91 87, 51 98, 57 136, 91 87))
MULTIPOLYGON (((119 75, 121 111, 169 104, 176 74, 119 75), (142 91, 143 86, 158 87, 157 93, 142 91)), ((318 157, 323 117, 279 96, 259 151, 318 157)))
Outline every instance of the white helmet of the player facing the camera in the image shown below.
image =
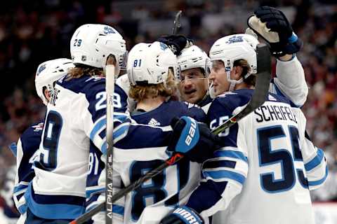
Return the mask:
POLYGON ((192 45, 190 48, 184 48, 181 55, 177 57, 181 71, 187 69, 201 68, 204 75, 207 77, 211 72, 211 60, 204 50, 201 50, 197 45, 192 45))

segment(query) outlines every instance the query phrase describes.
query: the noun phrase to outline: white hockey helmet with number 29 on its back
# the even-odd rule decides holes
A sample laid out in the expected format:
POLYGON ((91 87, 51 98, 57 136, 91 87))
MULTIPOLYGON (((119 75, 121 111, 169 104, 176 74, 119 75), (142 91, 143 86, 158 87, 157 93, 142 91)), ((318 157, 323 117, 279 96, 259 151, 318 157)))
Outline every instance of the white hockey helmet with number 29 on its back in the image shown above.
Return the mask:
POLYGON ((74 64, 86 64, 104 68, 109 55, 117 60, 117 71, 126 69, 127 51, 119 32, 100 24, 86 24, 77 28, 70 41, 70 53, 74 64))

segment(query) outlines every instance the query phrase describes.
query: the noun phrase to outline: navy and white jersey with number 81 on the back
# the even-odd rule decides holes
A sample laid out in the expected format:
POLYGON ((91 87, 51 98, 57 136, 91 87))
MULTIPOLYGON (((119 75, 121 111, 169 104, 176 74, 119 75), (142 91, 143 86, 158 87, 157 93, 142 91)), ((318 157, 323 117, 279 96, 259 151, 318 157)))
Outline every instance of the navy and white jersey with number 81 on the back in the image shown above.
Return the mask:
MULTIPOLYGON (((168 101, 157 109, 134 113, 136 123, 129 127, 128 135, 114 145, 116 183, 128 186, 141 176, 170 158, 166 153, 174 117, 191 116, 204 121, 205 113, 193 104, 168 101)), ((124 223, 159 223, 176 206, 185 204, 197 187, 201 167, 196 162, 180 161, 170 166, 140 188, 124 198, 124 206, 116 204, 124 223)))

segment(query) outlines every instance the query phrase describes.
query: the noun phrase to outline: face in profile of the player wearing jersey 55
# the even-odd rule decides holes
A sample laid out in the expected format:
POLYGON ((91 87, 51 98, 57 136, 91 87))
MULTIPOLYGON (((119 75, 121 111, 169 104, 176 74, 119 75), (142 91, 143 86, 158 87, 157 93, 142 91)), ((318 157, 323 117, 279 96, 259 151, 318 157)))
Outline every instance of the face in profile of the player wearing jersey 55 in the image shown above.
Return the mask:
POLYGON ((213 61, 209 80, 213 83, 214 94, 218 96, 226 92, 230 88, 230 83, 227 81, 225 66, 221 61, 213 61))

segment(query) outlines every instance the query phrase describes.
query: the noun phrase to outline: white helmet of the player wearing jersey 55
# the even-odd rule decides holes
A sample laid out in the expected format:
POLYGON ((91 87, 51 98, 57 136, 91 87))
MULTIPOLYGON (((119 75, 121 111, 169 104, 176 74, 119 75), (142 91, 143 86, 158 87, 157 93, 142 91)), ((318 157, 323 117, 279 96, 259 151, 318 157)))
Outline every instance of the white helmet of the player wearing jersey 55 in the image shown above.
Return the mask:
POLYGON ((238 59, 245 59, 251 66, 251 71, 244 76, 257 73, 256 45, 258 40, 250 34, 233 34, 224 36, 214 43, 209 51, 211 61, 221 60, 226 71, 231 71, 238 59))

